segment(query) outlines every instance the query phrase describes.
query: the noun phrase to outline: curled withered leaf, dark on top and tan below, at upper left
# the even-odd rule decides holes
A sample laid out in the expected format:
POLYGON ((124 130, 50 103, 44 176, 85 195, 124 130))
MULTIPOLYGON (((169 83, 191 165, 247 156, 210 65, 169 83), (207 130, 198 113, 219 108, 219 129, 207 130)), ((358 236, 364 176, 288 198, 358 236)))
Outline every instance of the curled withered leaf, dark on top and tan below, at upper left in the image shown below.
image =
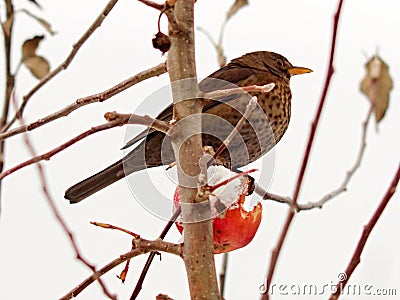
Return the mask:
POLYGON ((48 61, 36 54, 39 43, 44 39, 44 36, 35 36, 32 39, 26 40, 22 45, 22 62, 31 71, 33 76, 42 79, 50 72, 48 61))

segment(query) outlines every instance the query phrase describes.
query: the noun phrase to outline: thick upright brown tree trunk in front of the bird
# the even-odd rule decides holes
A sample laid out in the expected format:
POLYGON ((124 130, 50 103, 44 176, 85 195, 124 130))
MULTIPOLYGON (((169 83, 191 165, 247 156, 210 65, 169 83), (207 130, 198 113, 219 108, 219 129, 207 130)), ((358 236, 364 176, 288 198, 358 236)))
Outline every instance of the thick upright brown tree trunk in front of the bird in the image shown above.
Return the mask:
POLYGON ((176 2, 175 17, 179 31, 171 26, 169 30, 171 48, 168 53, 168 72, 173 83, 174 119, 177 122, 171 130, 171 141, 178 162, 182 217, 184 221, 188 221, 185 223, 183 254, 191 299, 220 299, 211 220, 206 218, 201 222, 189 222, 198 219, 195 214, 207 214, 207 209, 210 215, 210 208, 208 205, 201 205, 203 209, 200 212, 197 209, 193 210, 191 205, 185 205, 208 200, 197 197, 197 176, 200 173, 198 162, 202 156, 201 118, 190 117, 190 122, 181 121, 202 112, 202 102, 196 99, 199 96, 199 88, 194 50, 194 2, 176 2), (189 100, 180 101, 183 99, 189 100))

